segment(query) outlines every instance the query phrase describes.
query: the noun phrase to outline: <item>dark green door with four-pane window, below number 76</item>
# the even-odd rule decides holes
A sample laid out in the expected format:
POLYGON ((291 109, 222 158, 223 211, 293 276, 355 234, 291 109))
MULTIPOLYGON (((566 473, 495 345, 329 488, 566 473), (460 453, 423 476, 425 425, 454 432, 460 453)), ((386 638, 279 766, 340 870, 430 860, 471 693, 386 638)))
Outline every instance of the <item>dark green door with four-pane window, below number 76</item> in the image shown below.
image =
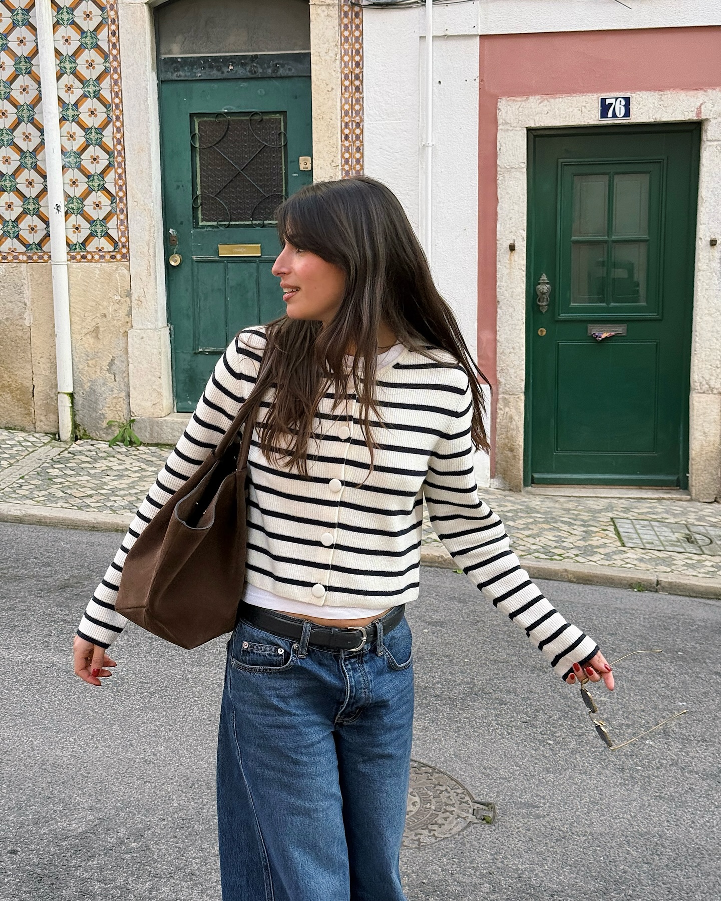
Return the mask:
POLYGON ((698 136, 529 135, 526 483, 688 483, 698 136))

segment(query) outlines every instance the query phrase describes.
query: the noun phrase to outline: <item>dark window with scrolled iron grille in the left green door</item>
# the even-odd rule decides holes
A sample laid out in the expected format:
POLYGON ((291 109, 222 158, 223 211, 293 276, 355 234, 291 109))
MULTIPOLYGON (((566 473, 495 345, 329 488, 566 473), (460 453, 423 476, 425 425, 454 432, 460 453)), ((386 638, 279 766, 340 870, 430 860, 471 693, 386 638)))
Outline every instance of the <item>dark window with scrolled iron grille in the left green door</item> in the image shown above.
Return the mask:
POLYGON ((287 196, 285 116, 195 116, 196 225, 275 224, 287 196))

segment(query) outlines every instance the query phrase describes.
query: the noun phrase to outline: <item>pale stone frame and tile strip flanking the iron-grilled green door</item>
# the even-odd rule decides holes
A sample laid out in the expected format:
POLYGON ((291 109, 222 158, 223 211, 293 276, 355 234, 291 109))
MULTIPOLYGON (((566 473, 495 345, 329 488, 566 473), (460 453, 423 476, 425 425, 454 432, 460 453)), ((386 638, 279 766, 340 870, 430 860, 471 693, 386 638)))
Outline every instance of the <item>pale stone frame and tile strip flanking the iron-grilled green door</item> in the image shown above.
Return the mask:
MULTIPOLYGON (((143 440, 175 443, 187 414, 174 414, 153 17, 155 7, 167 2, 118 0, 118 15, 128 172, 131 414, 143 440)), ((362 19, 357 9, 341 0, 310 0, 316 180, 352 174, 349 168, 362 171, 362 19)))

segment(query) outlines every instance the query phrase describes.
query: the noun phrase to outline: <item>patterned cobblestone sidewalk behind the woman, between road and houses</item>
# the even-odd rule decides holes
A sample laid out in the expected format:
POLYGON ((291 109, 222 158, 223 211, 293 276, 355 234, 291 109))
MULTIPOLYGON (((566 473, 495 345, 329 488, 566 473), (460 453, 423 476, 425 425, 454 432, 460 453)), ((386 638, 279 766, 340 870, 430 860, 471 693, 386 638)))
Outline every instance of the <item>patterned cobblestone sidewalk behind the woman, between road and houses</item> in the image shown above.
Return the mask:
MULTIPOLYGON (((169 449, 110 448, 77 441, 52 460, 39 460, 13 479, 12 467, 33 451, 56 444, 48 435, 0 430, 0 503, 36 504, 132 516, 169 449)), ((25 467, 26 469, 26 467, 25 467)), ((625 548, 612 517, 721 527, 721 505, 673 500, 531 496, 482 489, 481 496, 506 523, 514 551, 524 558, 639 569, 679 576, 721 578, 721 556, 625 548)), ((424 522, 424 544, 438 540, 424 522)))

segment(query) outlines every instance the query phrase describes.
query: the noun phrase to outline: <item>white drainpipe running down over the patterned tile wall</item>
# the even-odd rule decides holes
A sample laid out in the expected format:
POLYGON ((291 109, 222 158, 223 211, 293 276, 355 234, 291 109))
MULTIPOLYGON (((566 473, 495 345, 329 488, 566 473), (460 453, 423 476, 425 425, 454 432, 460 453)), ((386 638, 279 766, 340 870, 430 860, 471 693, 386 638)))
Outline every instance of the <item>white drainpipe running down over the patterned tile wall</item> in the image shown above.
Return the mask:
POLYGON ((55 357, 58 369, 58 420, 60 441, 72 441, 73 360, 70 343, 70 299, 68 293, 68 244, 65 236, 65 191, 62 184, 58 79, 50 0, 35 0, 38 58, 42 93, 50 217, 50 267, 52 305, 55 313, 55 357))

